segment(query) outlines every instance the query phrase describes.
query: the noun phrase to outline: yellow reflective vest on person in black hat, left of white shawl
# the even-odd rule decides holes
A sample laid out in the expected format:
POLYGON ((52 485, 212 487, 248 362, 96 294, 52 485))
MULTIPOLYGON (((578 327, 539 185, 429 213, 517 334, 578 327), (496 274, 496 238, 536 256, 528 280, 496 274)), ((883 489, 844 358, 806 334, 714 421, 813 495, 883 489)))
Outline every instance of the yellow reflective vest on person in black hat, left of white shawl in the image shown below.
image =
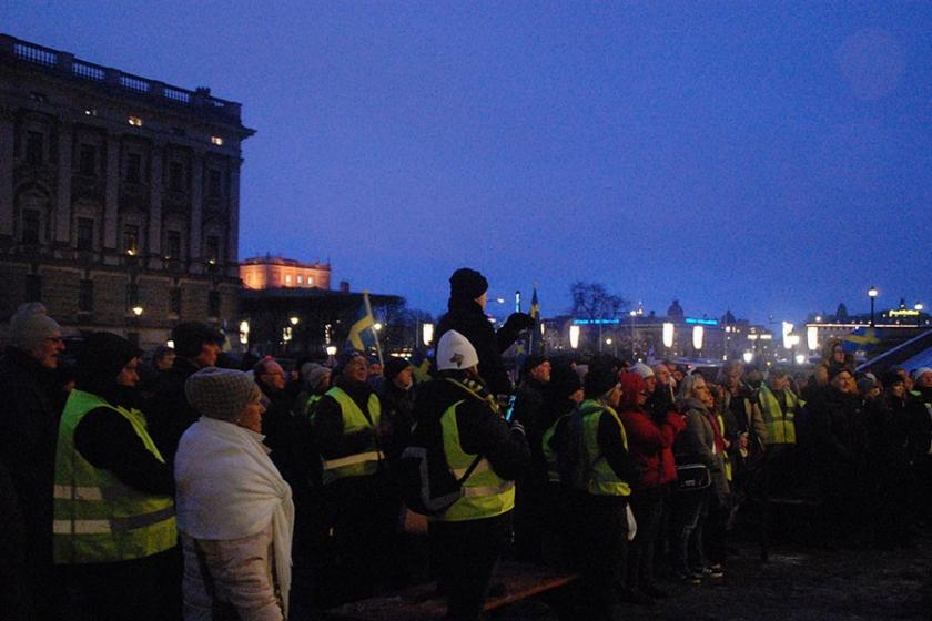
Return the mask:
POLYGON ((74 448, 74 429, 92 409, 105 407, 125 418, 159 461, 159 449, 136 409, 72 390, 59 425, 55 451, 53 554, 58 564, 141 559, 178 542, 174 500, 134 490, 109 470, 94 468, 74 448))

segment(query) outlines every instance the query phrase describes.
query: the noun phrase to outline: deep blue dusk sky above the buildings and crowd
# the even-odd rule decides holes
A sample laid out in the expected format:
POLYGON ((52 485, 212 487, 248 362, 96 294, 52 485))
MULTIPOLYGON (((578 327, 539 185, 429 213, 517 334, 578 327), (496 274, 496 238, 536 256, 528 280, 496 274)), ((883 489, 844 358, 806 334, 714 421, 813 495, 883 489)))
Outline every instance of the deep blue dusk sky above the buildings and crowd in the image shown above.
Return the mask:
MULTIPOLYGON (((932 2, 0 0, 0 31, 243 103, 241 258, 445 308, 932 305, 932 2)), ((492 309, 492 308, 490 308, 492 309)))

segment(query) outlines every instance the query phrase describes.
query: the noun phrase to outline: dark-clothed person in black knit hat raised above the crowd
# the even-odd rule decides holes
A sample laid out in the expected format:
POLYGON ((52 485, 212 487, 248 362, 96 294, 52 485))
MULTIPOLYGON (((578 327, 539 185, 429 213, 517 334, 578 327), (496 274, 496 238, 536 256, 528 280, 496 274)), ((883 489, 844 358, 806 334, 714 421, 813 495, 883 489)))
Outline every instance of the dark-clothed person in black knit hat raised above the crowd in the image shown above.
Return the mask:
MULTIPOLYGON (((485 314, 488 281, 475 269, 460 267, 449 277, 447 313, 437 323, 436 338, 456 330, 473 344, 479 356, 479 377, 493 395, 511 393, 511 380, 502 362, 502 354, 517 340, 521 330, 533 327, 534 318, 511 313, 505 325, 495 332, 485 314)), ((437 358, 437 364, 440 364, 437 358)))

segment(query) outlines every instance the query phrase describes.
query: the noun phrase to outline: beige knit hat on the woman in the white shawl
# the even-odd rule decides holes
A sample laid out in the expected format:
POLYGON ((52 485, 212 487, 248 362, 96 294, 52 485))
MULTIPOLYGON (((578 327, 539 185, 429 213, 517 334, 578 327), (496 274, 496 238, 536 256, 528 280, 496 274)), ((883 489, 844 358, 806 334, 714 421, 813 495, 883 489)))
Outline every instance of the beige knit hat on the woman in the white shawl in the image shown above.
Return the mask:
POLYGON ((262 390, 241 370, 206 367, 188 378, 184 396, 203 416, 235 423, 246 404, 262 398, 262 390))

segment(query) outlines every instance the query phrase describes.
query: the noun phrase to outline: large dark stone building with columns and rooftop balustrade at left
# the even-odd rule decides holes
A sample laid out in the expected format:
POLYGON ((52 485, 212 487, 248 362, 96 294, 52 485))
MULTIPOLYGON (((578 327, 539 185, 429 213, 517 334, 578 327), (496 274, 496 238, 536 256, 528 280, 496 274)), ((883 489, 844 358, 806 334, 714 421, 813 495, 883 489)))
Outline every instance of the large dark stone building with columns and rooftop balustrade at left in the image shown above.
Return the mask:
MULTIPOLYGON (((237 315, 241 105, 0 34, 0 323, 143 347, 237 315)), ((0 328, 2 329, 2 328, 0 328)))

